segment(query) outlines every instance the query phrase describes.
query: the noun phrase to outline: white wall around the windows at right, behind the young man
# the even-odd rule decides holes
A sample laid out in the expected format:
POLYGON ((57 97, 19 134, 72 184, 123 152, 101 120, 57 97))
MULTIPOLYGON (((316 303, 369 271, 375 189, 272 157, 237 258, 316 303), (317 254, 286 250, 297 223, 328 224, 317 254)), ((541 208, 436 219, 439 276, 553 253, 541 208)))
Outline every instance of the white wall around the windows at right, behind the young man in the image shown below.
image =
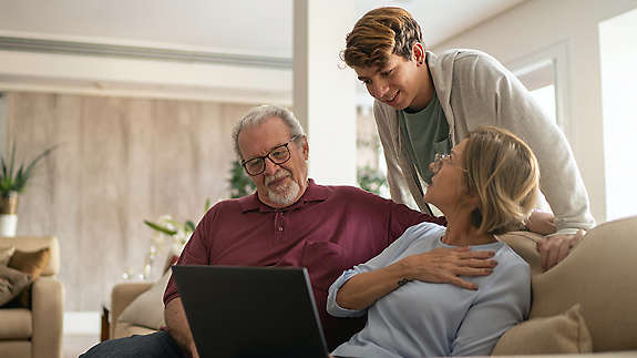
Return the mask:
POLYGON ((507 64, 566 43, 568 140, 598 223, 606 218, 607 180, 598 23, 634 8, 637 0, 530 0, 432 49, 479 49, 507 64))

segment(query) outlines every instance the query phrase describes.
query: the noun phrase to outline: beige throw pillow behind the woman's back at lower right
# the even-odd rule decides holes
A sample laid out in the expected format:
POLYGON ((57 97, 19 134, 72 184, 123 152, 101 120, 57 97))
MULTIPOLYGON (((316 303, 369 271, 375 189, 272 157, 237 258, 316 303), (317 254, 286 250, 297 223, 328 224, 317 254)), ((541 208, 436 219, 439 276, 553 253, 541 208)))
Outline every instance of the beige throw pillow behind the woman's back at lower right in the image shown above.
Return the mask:
POLYGON ((500 338, 492 355, 584 354, 592 349, 590 333, 577 304, 561 315, 516 325, 500 338))

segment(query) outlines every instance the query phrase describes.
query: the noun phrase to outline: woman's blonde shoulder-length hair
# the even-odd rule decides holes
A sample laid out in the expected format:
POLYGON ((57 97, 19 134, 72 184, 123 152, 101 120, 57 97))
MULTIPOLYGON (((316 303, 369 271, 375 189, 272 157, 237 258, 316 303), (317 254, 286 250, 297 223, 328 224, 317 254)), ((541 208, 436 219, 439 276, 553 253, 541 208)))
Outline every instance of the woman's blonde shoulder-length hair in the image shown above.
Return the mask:
POLYGON ((522 226, 537 201, 540 168, 531 147, 513 133, 482 126, 469 134, 462 167, 469 193, 477 195, 472 224, 502 234, 522 226))

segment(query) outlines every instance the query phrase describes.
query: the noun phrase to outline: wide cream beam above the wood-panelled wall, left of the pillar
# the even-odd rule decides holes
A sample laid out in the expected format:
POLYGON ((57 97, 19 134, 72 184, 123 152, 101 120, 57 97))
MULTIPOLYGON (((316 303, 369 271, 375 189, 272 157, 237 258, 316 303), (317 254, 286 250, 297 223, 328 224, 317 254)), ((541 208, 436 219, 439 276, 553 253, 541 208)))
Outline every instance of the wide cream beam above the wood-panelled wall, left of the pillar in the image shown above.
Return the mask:
POLYGON ((291 70, 0 50, 0 90, 291 103, 291 70))

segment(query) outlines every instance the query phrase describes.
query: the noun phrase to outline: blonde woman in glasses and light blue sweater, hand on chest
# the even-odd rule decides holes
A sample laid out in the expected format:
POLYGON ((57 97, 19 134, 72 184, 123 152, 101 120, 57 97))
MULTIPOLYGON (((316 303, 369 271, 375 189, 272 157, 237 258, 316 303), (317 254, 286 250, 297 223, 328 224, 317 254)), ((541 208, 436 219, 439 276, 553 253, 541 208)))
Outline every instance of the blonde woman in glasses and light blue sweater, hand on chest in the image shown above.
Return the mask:
POLYGON ((496 235, 520 227, 535 204, 540 172, 533 152, 505 130, 483 127, 451 155, 436 155, 431 168, 424 200, 444 213, 446 228, 412 226, 331 285, 331 315, 368 315, 367 326, 332 355, 489 355, 500 336, 526 318, 528 265, 496 235), (487 265, 469 260, 455 272, 461 287, 438 284, 448 278, 432 275, 433 268, 446 265, 449 253, 462 257, 469 250, 492 258, 487 265))

